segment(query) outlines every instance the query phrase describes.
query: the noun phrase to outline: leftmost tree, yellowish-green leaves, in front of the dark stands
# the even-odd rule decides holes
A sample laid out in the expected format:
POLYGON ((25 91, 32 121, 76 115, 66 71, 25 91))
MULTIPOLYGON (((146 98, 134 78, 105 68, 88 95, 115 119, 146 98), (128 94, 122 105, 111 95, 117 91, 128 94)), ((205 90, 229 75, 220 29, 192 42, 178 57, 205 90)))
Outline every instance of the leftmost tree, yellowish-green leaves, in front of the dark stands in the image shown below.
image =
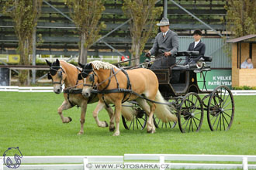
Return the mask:
MULTIPOLYGON (((19 64, 29 65, 29 54, 32 53, 33 31, 39 18, 42 0, 8 0, 5 2, 3 12, 14 21, 14 30, 19 39, 19 64)), ((19 71, 20 85, 28 85, 28 70, 19 71)))

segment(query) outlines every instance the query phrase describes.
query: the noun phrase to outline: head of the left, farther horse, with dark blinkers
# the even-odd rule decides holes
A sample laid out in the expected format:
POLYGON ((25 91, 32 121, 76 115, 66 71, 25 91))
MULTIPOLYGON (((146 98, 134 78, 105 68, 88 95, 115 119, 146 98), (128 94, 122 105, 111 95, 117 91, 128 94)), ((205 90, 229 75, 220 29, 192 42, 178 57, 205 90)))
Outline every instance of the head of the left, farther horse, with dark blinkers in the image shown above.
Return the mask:
POLYGON ((59 59, 56 59, 54 63, 47 61, 47 64, 50 66, 50 71, 48 73, 48 79, 52 80, 54 83, 54 93, 61 93, 62 84, 66 79, 65 71, 62 69, 59 59))

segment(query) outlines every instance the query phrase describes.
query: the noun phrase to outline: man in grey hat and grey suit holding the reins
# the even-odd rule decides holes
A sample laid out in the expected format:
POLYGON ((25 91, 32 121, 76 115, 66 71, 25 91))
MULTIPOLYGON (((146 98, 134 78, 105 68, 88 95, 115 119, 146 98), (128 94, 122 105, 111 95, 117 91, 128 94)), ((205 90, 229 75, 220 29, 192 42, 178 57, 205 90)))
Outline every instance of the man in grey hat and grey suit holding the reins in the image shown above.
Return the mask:
POLYGON ((160 26, 161 32, 155 37, 153 47, 146 53, 147 57, 154 55, 158 59, 150 69, 162 69, 174 65, 175 55, 178 52, 178 35, 169 29, 169 19, 161 19, 157 26, 160 26))

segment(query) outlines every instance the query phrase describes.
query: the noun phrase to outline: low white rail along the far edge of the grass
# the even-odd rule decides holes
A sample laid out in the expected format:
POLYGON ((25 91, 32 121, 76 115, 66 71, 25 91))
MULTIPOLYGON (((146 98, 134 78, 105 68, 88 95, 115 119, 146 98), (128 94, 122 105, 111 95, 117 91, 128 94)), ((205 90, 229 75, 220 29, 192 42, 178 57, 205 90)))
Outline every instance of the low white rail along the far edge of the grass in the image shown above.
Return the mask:
MULTIPOLYGON (((0 86, 0 91, 17 92, 53 92, 54 87, 18 87, 18 86, 0 86)), ((234 96, 256 95, 256 90, 231 90, 234 96)))

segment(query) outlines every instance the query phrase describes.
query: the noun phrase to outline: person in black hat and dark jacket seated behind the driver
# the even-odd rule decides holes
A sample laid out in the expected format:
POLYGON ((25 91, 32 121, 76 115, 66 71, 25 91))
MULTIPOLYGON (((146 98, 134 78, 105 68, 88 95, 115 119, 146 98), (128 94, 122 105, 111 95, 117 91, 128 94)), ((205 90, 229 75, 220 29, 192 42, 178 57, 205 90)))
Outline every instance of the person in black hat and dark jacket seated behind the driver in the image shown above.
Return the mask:
POLYGON ((195 41, 189 44, 188 51, 199 51, 199 56, 192 59, 189 59, 189 56, 186 56, 184 65, 196 63, 201 57, 205 56, 206 45, 201 40, 202 38, 201 30, 196 29, 193 33, 193 37, 195 41))

